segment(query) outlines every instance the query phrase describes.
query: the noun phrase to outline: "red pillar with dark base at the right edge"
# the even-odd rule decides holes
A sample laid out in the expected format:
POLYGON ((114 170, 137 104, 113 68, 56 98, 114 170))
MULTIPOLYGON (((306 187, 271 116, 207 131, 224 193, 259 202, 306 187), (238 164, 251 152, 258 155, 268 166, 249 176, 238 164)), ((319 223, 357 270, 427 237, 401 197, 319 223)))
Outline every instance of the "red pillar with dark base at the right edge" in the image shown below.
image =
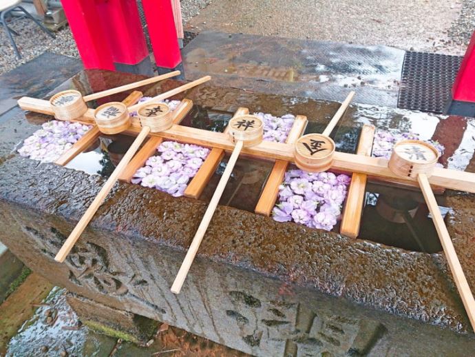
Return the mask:
POLYGON ((475 32, 452 86, 452 101, 447 113, 475 116, 475 32))

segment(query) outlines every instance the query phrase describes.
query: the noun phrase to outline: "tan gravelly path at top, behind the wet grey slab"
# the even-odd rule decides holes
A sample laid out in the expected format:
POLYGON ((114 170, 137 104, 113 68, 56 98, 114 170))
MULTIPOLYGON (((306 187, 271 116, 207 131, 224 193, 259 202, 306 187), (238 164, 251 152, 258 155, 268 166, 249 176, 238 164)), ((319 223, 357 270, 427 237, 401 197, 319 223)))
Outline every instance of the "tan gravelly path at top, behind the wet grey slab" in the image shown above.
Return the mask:
POLYGON ((475 29, 475 0, 215 0, 187 30, 392 45, 463 54, 475 29), (463 8, 463 10, 462 10, 463 8), (450 31, 454 23, 455 31, 450 31))

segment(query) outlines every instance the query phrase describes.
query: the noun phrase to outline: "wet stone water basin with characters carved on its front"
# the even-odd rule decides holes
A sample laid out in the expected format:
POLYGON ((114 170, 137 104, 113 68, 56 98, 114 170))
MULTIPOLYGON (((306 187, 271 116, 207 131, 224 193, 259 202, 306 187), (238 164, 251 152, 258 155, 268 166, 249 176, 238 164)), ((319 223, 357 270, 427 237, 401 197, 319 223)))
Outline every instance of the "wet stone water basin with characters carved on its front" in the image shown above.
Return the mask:
MULTIPOLYGON (((88 71, 63 87, 76 83, 83 89, 98 79, 114 87, 136 78, 88 71)), ((179 84, 167 81, 162 90, 179 84)), ((156 85, 145 94, 160 91, 156 85)), ((273 115, 304 114, 315 123, 326 123, 338 107, 209 85, 186 97, 216 112, 247 107, 273 115)), ((463 356, 475 348, 442 254, 410 252, 364 236, 353 241, 235 207, 218 207, 182 293, 173 295, 169 287, 206 203, 138 185, 116 185, 67 263, 55 263, 54 254, 104 179, 15 154, 15 145, 42 121, 38 114, 26 119, 20 114, 0 127, 1 241, 34 271, 71 292, 260 356, 306 351, 463 356)), ((354 105, 333 136, 363 123, 440 138, 445 163, 474 167, 472 143, 464 136, 472 119, 354 105), (447 128, 450 136, 441 132, 447 128), (458 160, 462 150, 467 154, 458 160)), ((473 285, 474 197, 445 196, 444 204, 452 207, 446 221, 473 285)))

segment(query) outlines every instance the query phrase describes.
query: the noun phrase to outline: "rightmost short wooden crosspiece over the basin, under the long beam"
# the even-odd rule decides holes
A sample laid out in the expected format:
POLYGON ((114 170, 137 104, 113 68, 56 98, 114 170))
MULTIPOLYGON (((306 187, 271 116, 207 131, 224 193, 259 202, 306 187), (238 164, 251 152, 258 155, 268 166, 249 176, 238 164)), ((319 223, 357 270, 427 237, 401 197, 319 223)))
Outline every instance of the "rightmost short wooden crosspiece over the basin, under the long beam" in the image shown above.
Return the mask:
MULTIPOLYGON (((363 125, 357 155, 371 156, 374 130, 375 128, 372 125, 363 125)), ((359 234, 361 213, 363 212, 366 193, 366 181, 368 181, 368 176, 365 174, 352 174, 340 227, 340 233, 350 238, 357 238, 359 234)))

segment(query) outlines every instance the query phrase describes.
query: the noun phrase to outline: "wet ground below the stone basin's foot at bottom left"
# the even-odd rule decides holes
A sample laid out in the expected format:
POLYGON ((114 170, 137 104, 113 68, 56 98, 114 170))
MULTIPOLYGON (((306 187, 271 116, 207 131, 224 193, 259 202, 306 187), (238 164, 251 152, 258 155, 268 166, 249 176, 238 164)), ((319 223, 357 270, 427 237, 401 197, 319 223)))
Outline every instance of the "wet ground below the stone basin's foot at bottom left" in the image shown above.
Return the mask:
POLYGON ((65 289, 53 287, 45 300, 36 305, 33 316, 21 325, 2 356, 246 356, 167 324, 159 327, 146 346, 94 332, 78 320, 66 294, 65 289))

